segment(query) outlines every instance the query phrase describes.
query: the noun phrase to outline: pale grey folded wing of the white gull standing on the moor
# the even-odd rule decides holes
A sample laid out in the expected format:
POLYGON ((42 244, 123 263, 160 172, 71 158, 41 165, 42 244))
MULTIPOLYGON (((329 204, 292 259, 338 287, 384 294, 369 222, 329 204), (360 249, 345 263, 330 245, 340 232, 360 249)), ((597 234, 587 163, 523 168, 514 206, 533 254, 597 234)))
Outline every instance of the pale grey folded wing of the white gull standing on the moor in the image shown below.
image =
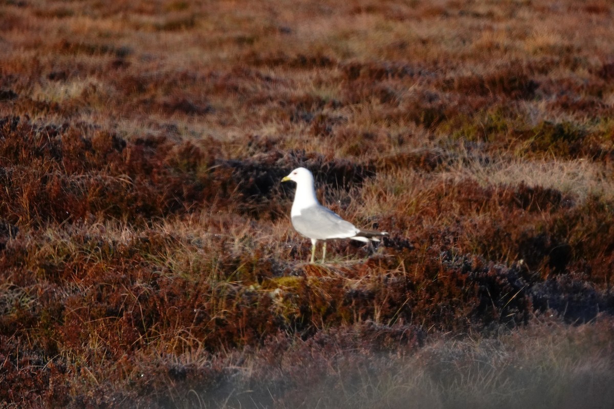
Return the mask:
POLYGON ((305 237, 316 240, 344 239, 359 232, 354 224, 323 206, 301 210, 299 216, 292 216, 292 226, 305 237))

